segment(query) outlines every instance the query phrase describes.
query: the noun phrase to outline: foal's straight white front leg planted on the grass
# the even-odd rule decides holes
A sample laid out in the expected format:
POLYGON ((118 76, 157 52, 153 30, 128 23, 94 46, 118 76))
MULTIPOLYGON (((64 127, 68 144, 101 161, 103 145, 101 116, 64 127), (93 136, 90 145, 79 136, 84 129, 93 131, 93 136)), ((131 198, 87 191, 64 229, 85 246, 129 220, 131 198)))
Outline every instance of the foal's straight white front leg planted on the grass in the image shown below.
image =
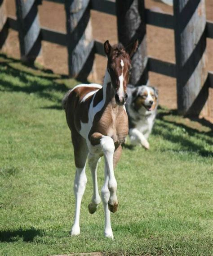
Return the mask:
POLYGON ((110 198, 110 191, 108 188, 108 182, 109 182, 109 174, 108 174, 108 167, 105 160, 105 166, 104 166, 104 184, 101 190, 101 196, 102 196, 102 202, 103 202, 103 208, 104 208, 104 215, 105 215, 105 226, 104 226, 104 235, 106 238, 113 239, 113 233, 111 229, 111 220, 110 220, 110 210, 108 208, 108 201, 110 198))

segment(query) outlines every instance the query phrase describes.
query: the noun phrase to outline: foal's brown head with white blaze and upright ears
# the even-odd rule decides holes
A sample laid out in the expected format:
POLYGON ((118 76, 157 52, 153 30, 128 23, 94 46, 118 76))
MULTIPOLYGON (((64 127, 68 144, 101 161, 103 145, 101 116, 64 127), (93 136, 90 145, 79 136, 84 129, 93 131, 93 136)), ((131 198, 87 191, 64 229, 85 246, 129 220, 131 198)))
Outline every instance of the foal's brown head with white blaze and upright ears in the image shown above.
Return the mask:
POLYGON ((115 92, 115 101, 118 105, 124 105, 127 100, 127 84, 131 73, 131 58, 137 50, 138 41, 135 41, 128 50, 121 44, 111 46, 107 40, 104 50, 108 58, 107 71, 111 77, 111 85, 115 92))

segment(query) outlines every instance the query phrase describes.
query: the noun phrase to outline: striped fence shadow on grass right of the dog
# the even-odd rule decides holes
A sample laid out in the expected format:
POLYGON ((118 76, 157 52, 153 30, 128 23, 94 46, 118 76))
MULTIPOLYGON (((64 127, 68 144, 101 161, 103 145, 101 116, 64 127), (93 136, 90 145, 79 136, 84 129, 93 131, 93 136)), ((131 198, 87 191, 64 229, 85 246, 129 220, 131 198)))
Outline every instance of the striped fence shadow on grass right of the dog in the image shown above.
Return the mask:
MULTIPOLYGON (((178 119, 181 119, 181 121, 184 120, 178 116, 177 110, 166 111, 160 107, 160 113, 158 114, 152 134, 160 136, 164 138, 164 140, 181 144, 181 151, 194 152, 204 157, 213 156, 212 151, 205 149, 206 143, 209 145, 212 145, 213 143, 212 130, 208 132, 202 132, 196 128, 196 125, 195 128, 189 127, 187 124, 179 123, 178 119), (165 116, 173 117, 173 120, 167 120, 164 118, 165 116), (174 133, 174 130, 177 130, 177 133, 174 133), (200 139, 204 143, 201 144, 200 139)), ((213 124, 205 119, 191 118, 191 121, 201 123, 206 128, 213 128, 213 124)), ((193 123, 191 123, 191 126, 192 125, 193 123)), ((123 147, 129 150, 134 148, 134 146, 131 144, 124 144, 123 147)), ((173 149, 173 151, 175 150, 173 149)), ((176 151, 177 153, 180 152, 180 150, 176 151)))

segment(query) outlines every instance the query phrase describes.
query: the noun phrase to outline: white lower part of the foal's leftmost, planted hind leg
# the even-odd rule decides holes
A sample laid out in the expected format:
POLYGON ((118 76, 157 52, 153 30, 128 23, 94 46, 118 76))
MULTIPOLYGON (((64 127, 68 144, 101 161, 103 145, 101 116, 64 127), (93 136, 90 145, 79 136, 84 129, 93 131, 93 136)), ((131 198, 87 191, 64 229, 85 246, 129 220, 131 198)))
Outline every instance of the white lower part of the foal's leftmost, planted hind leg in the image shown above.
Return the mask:
POLYGON ((81 200, 84 195, 84 191, 86 188, 87 183, 87 177, 85 168, 76 168, 75 172, 75 181, 74 181, 74 193, 75 193, 75 220, 74 224, 71 229, 71 235, 78 235, 80 234, 80 225, 79 225, 79 219, 80 219, 80 205, 81 200))

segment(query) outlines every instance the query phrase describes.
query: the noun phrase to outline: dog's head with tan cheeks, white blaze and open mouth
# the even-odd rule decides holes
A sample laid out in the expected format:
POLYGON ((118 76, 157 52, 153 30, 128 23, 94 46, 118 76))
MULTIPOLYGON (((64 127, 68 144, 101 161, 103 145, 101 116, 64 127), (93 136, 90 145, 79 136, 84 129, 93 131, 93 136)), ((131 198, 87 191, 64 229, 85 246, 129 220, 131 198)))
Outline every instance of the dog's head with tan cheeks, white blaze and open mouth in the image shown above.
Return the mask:
POLYGON ((132 92, 132 104, 136 110, 155 110, 158 105, 158 90, 151 86, 138 86, 132 92))

